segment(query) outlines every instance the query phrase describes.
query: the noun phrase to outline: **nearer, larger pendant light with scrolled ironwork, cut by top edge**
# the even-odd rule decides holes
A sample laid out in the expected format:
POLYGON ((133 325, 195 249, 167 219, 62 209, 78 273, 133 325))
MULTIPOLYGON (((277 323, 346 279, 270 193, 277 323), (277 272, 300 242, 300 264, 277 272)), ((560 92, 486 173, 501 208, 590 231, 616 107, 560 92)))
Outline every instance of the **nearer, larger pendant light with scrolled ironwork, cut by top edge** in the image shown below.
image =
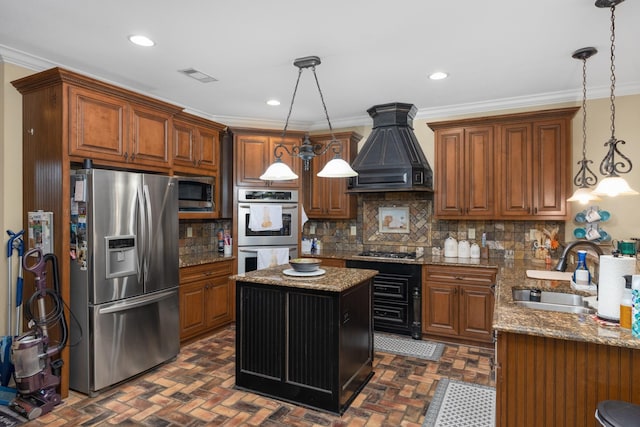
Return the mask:
POLYGON ((616 87, 616 74, 615 74, 615 10, 616 5, 622 3, 624 0, 596 0, 596 6, 600 8, 608 7, 611 9, 611 138, 605 142, 605 146, 608 146, 608 151, 602 162, 600 163, 600 173, 605 178, 600 181, 593 193, 598 196, 627 196, 639 194, 633 190, 627 181, 619 174, 631 172, 632 164, 631 160, 622 154, 618 149, 618 144, 625 144, 623 140, 616 139, 616 106, 615 106, 615 87, 616 87), (616 155, 620 156, 620 159, 616 159, 616 155))

